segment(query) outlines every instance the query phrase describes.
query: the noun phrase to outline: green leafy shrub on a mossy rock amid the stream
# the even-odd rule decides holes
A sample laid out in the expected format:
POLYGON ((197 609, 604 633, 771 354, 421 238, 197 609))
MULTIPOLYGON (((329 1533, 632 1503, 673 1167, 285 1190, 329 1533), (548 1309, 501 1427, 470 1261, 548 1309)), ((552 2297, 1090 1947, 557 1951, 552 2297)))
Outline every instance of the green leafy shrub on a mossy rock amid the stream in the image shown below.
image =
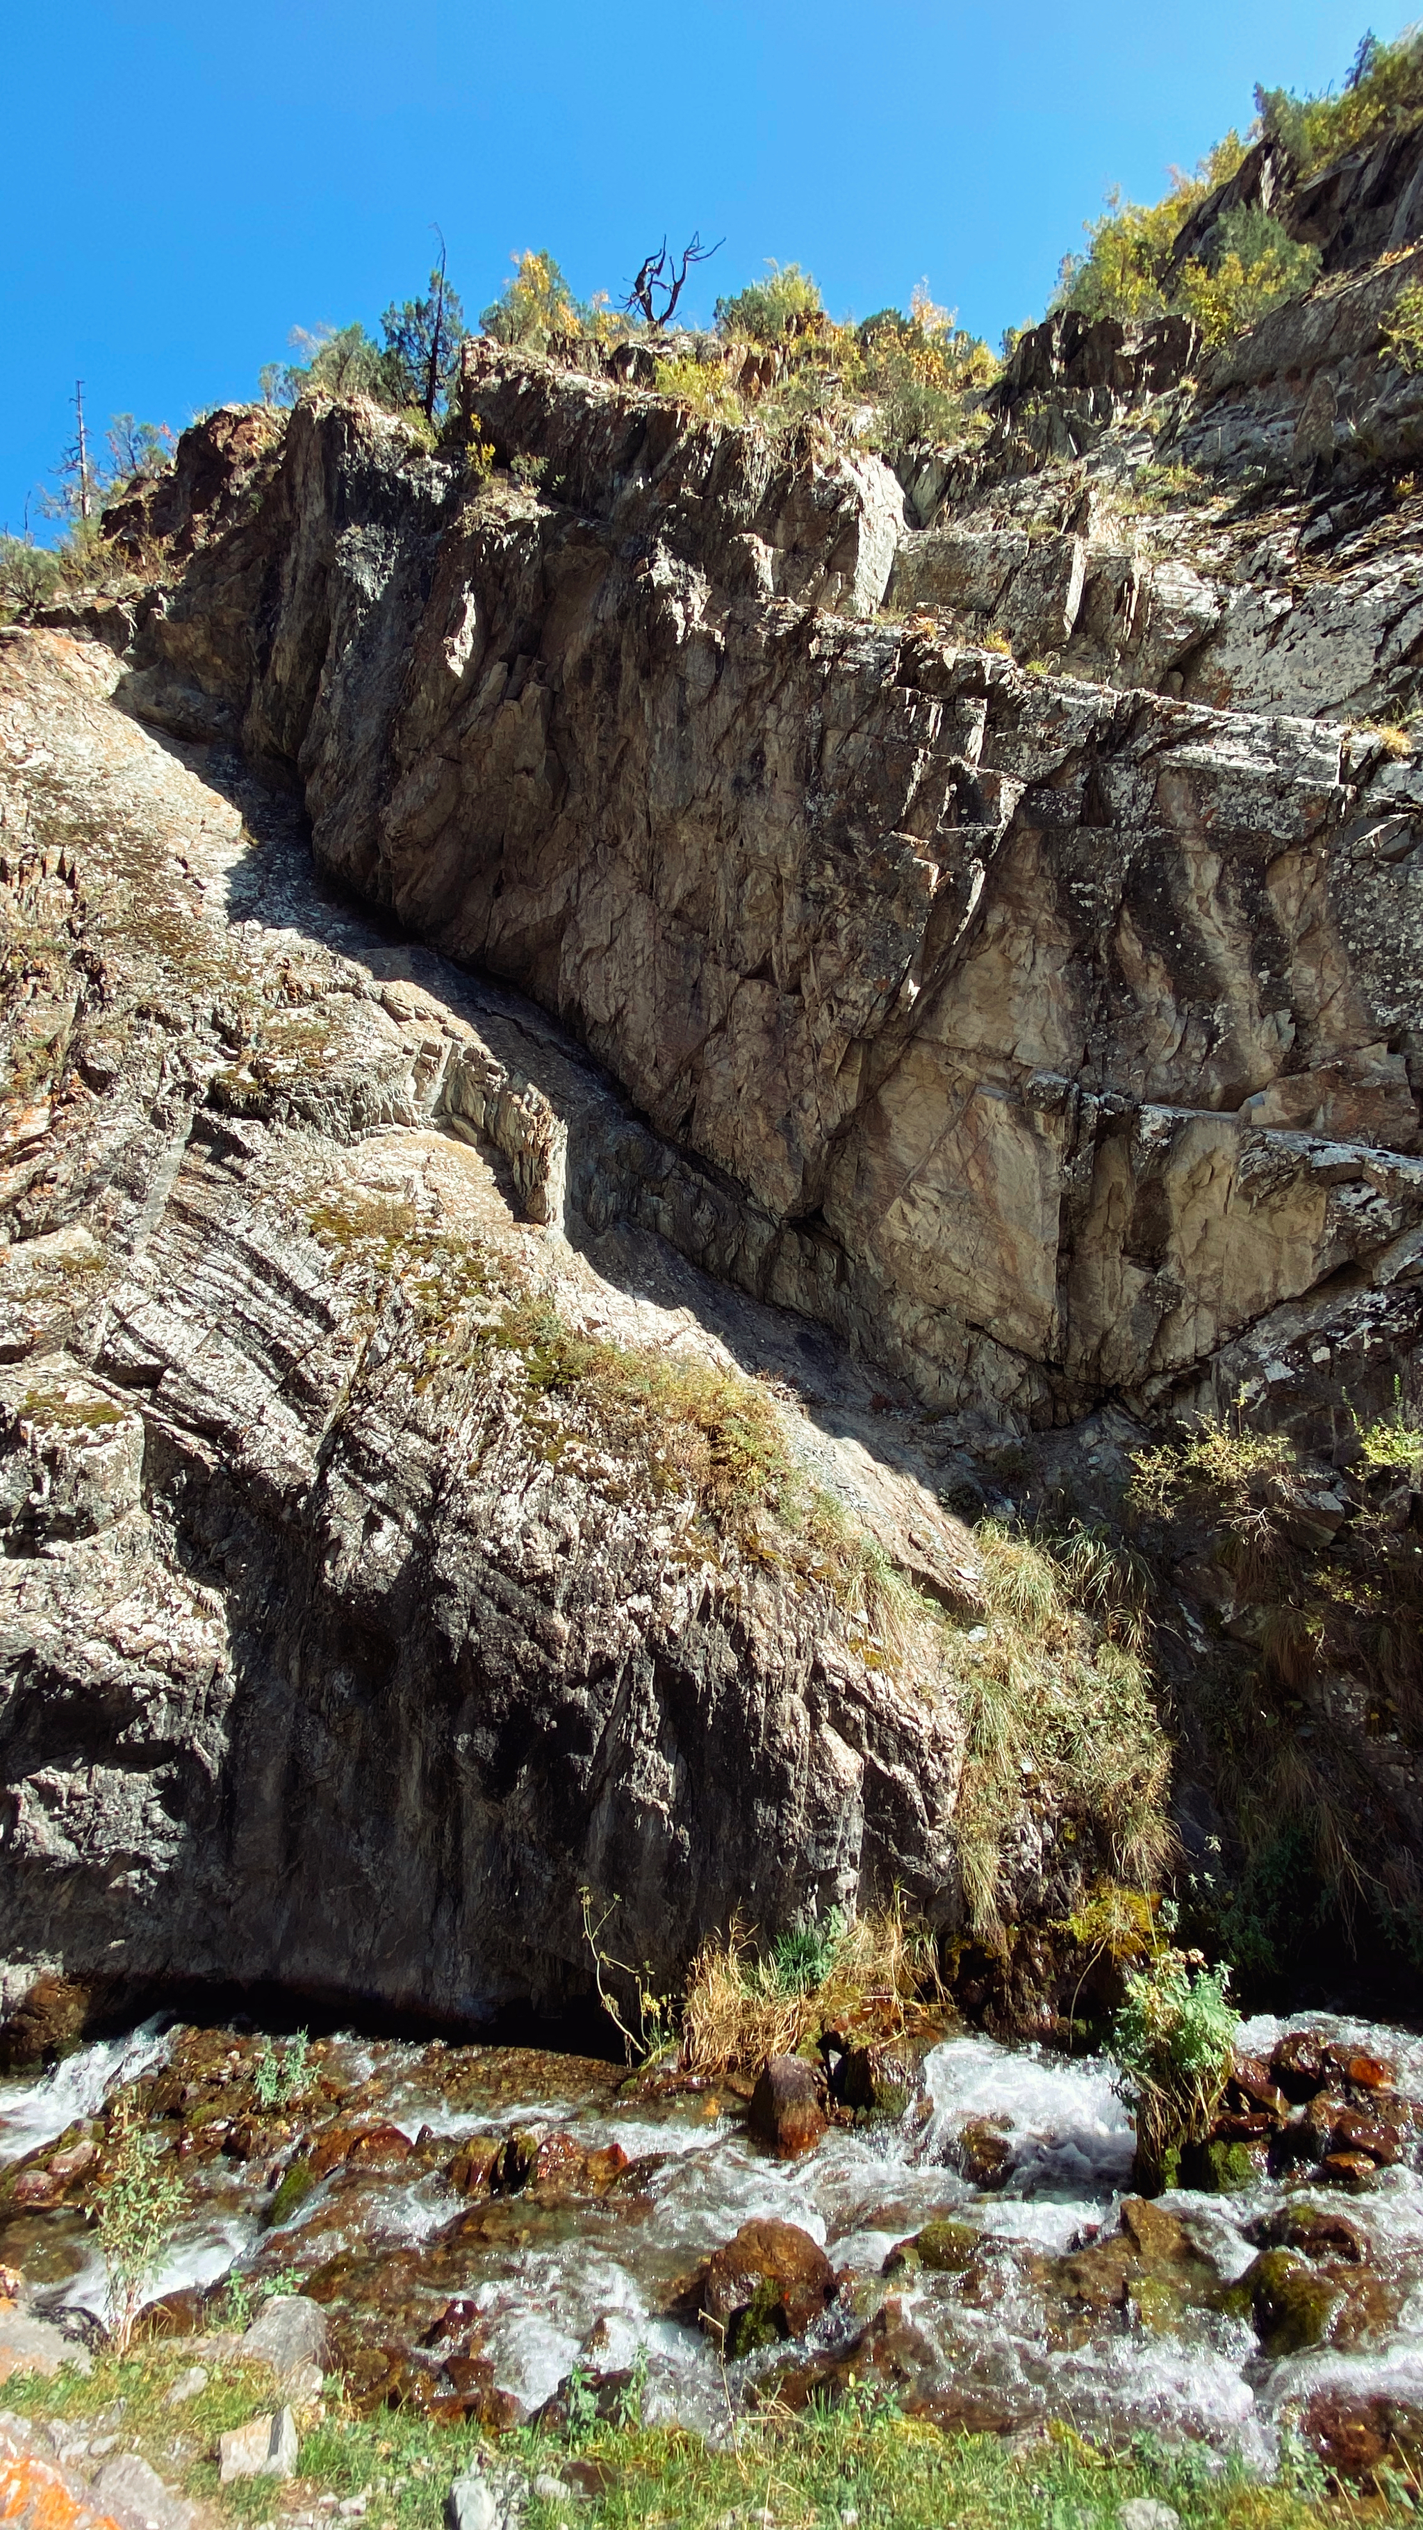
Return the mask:
POLYGON ((1137 2118, 1144 2171, 1167 2186, 1172 2156, 1205 2140, 1231 2077, 1241 2016, 1228 1984, 1231 1971, 1208 1968, 1200 1951, 1157 1951, 1127 1971, 1112 2024, 1117 2090, 1137 2118))

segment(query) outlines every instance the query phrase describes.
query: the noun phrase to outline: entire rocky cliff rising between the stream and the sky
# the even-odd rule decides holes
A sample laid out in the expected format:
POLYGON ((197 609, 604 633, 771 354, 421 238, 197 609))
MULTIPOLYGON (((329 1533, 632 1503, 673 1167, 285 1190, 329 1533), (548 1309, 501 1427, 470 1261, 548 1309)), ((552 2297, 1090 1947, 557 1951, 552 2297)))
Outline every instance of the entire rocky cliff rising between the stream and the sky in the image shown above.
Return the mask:
MULTIPOLYGON (((557 2001, 582 1885, 658 1976, 982 1928, 944 1503, 1413 1392, 1415 261, 1213 364, 1053 319, 896 471, 473 344, 438 448, 197 425, 129 597, 8 635, 20 1981, 557 2001)), ((1208 1571, 1162 1642, 1251 1639, 1208 1571)), ((1144 1849, 1084 1781, 1023 1758, 1005 1913, 1144 1849)))

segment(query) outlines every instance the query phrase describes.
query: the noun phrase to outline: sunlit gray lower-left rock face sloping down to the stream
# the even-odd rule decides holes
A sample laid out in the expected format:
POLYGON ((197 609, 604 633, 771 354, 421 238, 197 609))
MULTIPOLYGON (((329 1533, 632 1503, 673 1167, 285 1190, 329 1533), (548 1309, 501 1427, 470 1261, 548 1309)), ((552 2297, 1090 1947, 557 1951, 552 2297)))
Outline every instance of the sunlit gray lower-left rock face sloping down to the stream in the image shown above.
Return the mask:
POLYGON ((636 1397, 580 1419, 539 1311, 760 1399, 851 1533, 972 1607, 912 1424, 656 1237, 734 1204, 537 1009, 332 903, 114 676, 0 648, 10 1961, 468 2016, 585 1991, 582 1885, 668 1976, 744 1903, 904 1880, 952 1915, 937 1657, 775 1518, 701 1521, 636 1397))

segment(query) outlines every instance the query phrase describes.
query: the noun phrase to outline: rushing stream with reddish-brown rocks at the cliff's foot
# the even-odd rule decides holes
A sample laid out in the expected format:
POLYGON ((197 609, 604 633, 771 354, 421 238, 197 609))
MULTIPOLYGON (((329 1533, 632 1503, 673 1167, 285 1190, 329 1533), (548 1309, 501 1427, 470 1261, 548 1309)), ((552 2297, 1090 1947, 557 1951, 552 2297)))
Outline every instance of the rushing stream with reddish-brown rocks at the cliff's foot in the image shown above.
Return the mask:
MULTIPOLYGON (((1393 2029, 1312 2014, 1248 2021, 1241 2042, 1263 2057, 1291 2027, 1388 2057, 1400 2095, 1423 2095, 1423 2042, 1393 2029)), ((149 2021, 43 2077, 3 2082, 0 2163, 81 2133, 116 2082, 157 2075, 154 2118, 167 2110, 165 2133, 182 2156, 187 2221, 154 2295, 180 2295, 172 2307, 190 2312, 185 2325, 213 2325, 213 2295, 208 2312, 192 2315, 200 2297, 187 2290, 182 2300, 185 2287, 235 2272, 256 2305, 263 2285, 299 2285, 329 2305, 342 2358, 357 2378, 365 2363, 375 2388, 395 2386, 400 2363, 413 2366, 418 2388, 458 2335, 466 2371, 479 2360, 481 2376, 529 2411, 572 2366, 613 2373, 641 2350, 646 2414, 717 2431, 729 2401, 765 2393, 770 2381, 795 2393, 795 2366, 803 2381, 815 2358, 833 2371, 836 2350, 874 2320, 899 2393, 909 2383, 944 2421, 1003 2429, 1051 2414, 1112 2436, 1190 2434, 1269 2467, 1281 2424, 1309 2421, 1322 2398, 1382 2393, 1423 2406, 1415 2130, 1403 2161, 1360 2194, 1319 2186, 1309 2171, 1261 2176, 1231 2196, 1167 2191, 1157 2206, 1177 2224, 1157 2226, 1122 2285, 1112 2257, 1132 2125, 1101 2059, 947 2037, 927 2054, 922 2092, 899 2125, 833 2128, 813 2153, 782 2163, 747 2138, 744 2107, 727 2090, 628 2102, 618 2070, 582 2057, 337 2037, 311 2052, 322 2115, 344 2120, 342 2135, 354 2120, 367 2158, 347 2153, 322 2173, 311 2153, 322 2120, 309 2107, 294 2107, 284 2128, 258 2120, 253 2130, 251 2118, 228 2123, 208 2105, 208 2123, 182 2130, 187 2110, 165 2102, 162 2080, 165 2067, 182 2070, 175 2049, 195 2039, 208 2049, 208 2102, 213 2085, 220 2102, 223 2082, 251 2092, 258 2042, 149 2021), (519 2128, 562 2133, 580 2153, 618 2145, 605 2153, 618 2163, 613 2183, 603 2194, 534 2183, 468 2201, 448 2176, 461 2168, 461 2145, 519 2128), (965 2148, 965 2130, 980 2145, 987 2133, 998 2168, 965 2148), (271 2221, 294 2150, 309 2153, 311 2186, 289 2219, 271 2221), (1299 2224, 1301 2206, 1324 2211, 1327 2272, 1345 2282, 1334 2317, 1314 2330, 1324 2343, 1299 2343, 1294 2323, 1271 2343, 1238 2300, 1231 2305, 1228 2287, 1251 2269, 1261 2239, 1299 2224), (722 2368, 714 2343, 668 2315, 668 2302, 752 2216, 793 2221, 823 2244, 841 2295, 805 2345, 722 2368), (960 2272, 909 2262, 884 2274, 896 2244, 937 2219, 977 2234, 960 2272)), ((197 2090, 192 2082, 180 2100, 197 2090)), ((10 2183, 0 2199, 0 2259, 25 2272, 43 2307, 104 2315, 104 2274, 78 2204, 43 2204, 43 2178, 30 2178, 28 2194, 33 2201, 15 2201, 10 2183)))

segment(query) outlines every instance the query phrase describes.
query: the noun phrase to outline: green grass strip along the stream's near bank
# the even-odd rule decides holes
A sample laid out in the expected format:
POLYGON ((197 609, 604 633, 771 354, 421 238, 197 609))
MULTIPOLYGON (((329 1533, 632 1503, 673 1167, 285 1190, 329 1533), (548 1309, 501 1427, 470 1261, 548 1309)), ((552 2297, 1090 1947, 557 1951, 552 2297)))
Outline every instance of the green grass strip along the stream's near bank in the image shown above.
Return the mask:
MULTIPOLYGON (((230 2363, 197 2398, 165 2406, 190 2363, 192 2348, 175 2338, 127 2360, 99 2355, 89 2378, 13 2378, 5 2398, 20 2414, 63 2416, 73 2426, 104 2416, 106 2431, 122 2429, 122 2447, 137 2444, 167 2484, 182 2484, 233 2525, 268 2520, 291 2500, 367 2495, 367 2530, 438 2530, 451 2479, 481 2444, 489 2449, 479 2429, 436 2424, 415 2409, 357 2419, 332 2404, 319 2419, 314 2411, 299 2419, 301 2479, 281 2500, 261 2477, 218 2487, 218 2434, 273 2404, 271 2373, 230 2363), (114 2419, 119 2398, 124 2414, 114 2419)), ((529 2530, 557 2530, 572 2517, 587 2530, 742 2522, 841 2530, 853 2515, 858 2530, 1117 2530, 1117 2510, 1132 2495, 1175 2505, 1185 2530, 1309 2530, 1342 2517, 1307 2492, 1317 2482, 1309 2469, 1266 2484, 1193 2447, 1167 2454, 1139 2439, 1119 2454, 1099 2452, 1061 2424, 1010 2452, 987 2436, 939 2434, 868 2396, 803 2419, 775 2411, 737 2419, 727 2449, 676 2429, 595 2424, 567 2436, 519 2429, 496 2452, 532 2487, 537 2474, 557 2474, 570 2444, 595 2464, 603 2487, 577 2515, 572 2492, 560 2502, 529 2492, 529 2530)), ((1390 2517, 1380 2505, 1370 2510, 1375 2520, 1390 2517)))

